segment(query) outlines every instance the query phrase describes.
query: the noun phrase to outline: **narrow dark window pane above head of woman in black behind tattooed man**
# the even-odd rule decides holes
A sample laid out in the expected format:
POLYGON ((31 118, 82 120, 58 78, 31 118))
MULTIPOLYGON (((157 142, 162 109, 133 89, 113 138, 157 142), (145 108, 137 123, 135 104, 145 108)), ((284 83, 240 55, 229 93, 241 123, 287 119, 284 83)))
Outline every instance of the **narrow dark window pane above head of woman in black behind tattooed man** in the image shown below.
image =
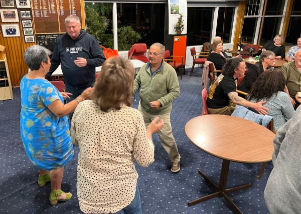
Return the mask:
POLYGON ((231 39, 231 29, 233 23, 234 7, 219 7, 216 35, 223 39, 224 43, 229 43, 231 39))

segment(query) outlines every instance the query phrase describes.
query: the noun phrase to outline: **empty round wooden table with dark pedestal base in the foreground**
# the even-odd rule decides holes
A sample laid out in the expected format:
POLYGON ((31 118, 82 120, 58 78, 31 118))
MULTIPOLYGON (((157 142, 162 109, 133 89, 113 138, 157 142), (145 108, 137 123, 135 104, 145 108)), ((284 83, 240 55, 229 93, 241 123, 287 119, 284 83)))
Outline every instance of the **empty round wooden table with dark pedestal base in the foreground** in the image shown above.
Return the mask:
POLYGON ((215 187, 216 192, 192 200, 188 205, 222 196, 237 213, 242 213, 226 193, 248 188, 252 184, 226 189, 230 161, 246 163, 270 161, 275 134, 255 122, 219 114, 207 114, 189 120, 185 132, 198 148, 223 160, 218 185, 199 170, 199 174, 215 187))

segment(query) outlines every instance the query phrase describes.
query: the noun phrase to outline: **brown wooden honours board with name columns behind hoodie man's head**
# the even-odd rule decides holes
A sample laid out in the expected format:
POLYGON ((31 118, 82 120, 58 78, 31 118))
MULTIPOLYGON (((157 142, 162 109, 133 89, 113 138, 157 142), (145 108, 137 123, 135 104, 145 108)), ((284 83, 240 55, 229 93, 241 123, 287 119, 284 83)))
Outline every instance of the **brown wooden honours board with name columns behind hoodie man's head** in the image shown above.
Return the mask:
POLYGON ((80 0, 32 0, 36 33, 66 32, 65 18, 81 19, 80 0))

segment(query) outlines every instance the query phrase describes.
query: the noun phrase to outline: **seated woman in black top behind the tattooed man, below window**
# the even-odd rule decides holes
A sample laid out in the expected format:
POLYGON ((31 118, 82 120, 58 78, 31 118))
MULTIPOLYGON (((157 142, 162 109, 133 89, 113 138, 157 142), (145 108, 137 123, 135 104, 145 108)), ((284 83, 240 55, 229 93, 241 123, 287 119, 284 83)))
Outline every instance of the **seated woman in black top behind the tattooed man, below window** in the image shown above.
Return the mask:
MULTIPOLYGON (((214 63, 215 69, 221 70, 223 65, 226 63, 227 58, 231 58, 224 51, 223 42, 219 39, 213 40, 211 44, 212 51, 207 57, 208 61, 212 61, 214 63)), ((241 56, 241 55, 238 55, 241 56)), ((235 56, 235 57, 238 57, 235 56)))

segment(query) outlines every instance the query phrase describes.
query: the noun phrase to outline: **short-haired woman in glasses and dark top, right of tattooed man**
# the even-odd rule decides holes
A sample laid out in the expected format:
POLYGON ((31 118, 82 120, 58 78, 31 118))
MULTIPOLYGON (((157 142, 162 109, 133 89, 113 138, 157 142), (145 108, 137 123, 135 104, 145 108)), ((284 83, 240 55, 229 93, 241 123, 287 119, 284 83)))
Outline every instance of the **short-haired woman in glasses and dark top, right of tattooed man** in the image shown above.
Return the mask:
POLYGON ((252 84, 257 79, 257 77, 267 69, 269 66, 273 66, 275 61, 275 53, 270 50, 266 50, 260 54, 260 59, 255 64, 252 64, 248 68, 248 72, 243 78, 241 84, 237 88, 246 93, 249 93, 252 84))

